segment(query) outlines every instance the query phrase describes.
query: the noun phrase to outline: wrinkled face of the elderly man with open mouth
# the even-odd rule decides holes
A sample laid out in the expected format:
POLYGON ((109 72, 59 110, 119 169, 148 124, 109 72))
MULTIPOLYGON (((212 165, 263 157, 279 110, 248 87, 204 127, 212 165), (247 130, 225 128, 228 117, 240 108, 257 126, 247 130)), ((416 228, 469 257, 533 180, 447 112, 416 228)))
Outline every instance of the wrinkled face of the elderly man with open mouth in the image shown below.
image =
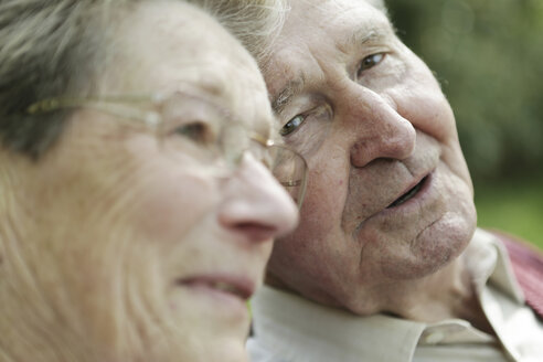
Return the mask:
POLYGON ((393 311, 475 230, 453 111, 369 2, 290 6, 263 71, 309 180, 301 223, 276 242, 269 281, 359 313, 393 311))

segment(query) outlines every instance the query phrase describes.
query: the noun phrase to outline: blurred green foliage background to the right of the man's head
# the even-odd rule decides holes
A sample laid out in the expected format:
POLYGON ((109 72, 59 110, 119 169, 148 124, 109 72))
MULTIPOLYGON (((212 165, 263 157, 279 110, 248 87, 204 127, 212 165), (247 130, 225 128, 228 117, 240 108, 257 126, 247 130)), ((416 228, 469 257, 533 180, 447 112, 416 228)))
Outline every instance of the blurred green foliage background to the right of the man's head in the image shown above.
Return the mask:
POLYGON ((543 248, 543 0, 385 0, 455 110, 479 225, 543 248))

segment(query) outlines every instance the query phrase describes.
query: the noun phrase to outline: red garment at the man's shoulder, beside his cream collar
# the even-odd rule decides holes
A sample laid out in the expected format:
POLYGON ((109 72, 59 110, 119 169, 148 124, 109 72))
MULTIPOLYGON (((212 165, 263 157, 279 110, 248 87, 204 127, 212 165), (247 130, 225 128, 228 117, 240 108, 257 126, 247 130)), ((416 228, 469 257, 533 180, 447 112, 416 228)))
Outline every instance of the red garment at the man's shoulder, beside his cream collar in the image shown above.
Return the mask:
POLYGON ((543 252, 502 232, 491 232, 508 249, 513 272, 530 306, 543 319, 543 252))

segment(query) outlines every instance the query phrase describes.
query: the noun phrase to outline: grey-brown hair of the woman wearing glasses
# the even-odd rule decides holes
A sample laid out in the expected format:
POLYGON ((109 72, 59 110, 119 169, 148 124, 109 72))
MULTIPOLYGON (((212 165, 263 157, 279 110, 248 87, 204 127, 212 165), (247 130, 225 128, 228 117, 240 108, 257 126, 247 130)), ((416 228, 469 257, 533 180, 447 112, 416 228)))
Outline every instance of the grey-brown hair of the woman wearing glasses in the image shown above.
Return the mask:
MULTIPOLYGON (((0 141, 40 157, 62 132, 66 115, 31 116, 43 98, 89 91, 107 58, 107 9, 115 0, 0 2, 0 141)), ((127 2, 127 1, 124 1, 127 2)))

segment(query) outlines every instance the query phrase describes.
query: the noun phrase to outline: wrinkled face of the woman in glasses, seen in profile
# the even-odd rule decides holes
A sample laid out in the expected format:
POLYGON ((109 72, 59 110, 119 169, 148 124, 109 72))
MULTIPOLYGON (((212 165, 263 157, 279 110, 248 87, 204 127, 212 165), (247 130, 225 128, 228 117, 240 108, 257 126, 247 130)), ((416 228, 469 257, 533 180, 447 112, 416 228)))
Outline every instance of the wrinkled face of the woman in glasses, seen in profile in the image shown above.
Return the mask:
MULTIPOLYGON (((199 10, 149 1, 116 41, 100 95, 181 87, 224 121, 272 135, 255 63, 199 10)), ((210 114, 199 102, 183 107, 181 123, 210 114)), ((42 301, 60 309, 55 334, 102 361, 244 361, 246 300, 273 237, 297 222, 263 163, 246 155, 232 172, 203 164, 183 151, 184 136, 159 141, 136 120, 82 108, 22 182, 20 219, 31 223, 21 228, 35 247, 25 255, 42 301)))

